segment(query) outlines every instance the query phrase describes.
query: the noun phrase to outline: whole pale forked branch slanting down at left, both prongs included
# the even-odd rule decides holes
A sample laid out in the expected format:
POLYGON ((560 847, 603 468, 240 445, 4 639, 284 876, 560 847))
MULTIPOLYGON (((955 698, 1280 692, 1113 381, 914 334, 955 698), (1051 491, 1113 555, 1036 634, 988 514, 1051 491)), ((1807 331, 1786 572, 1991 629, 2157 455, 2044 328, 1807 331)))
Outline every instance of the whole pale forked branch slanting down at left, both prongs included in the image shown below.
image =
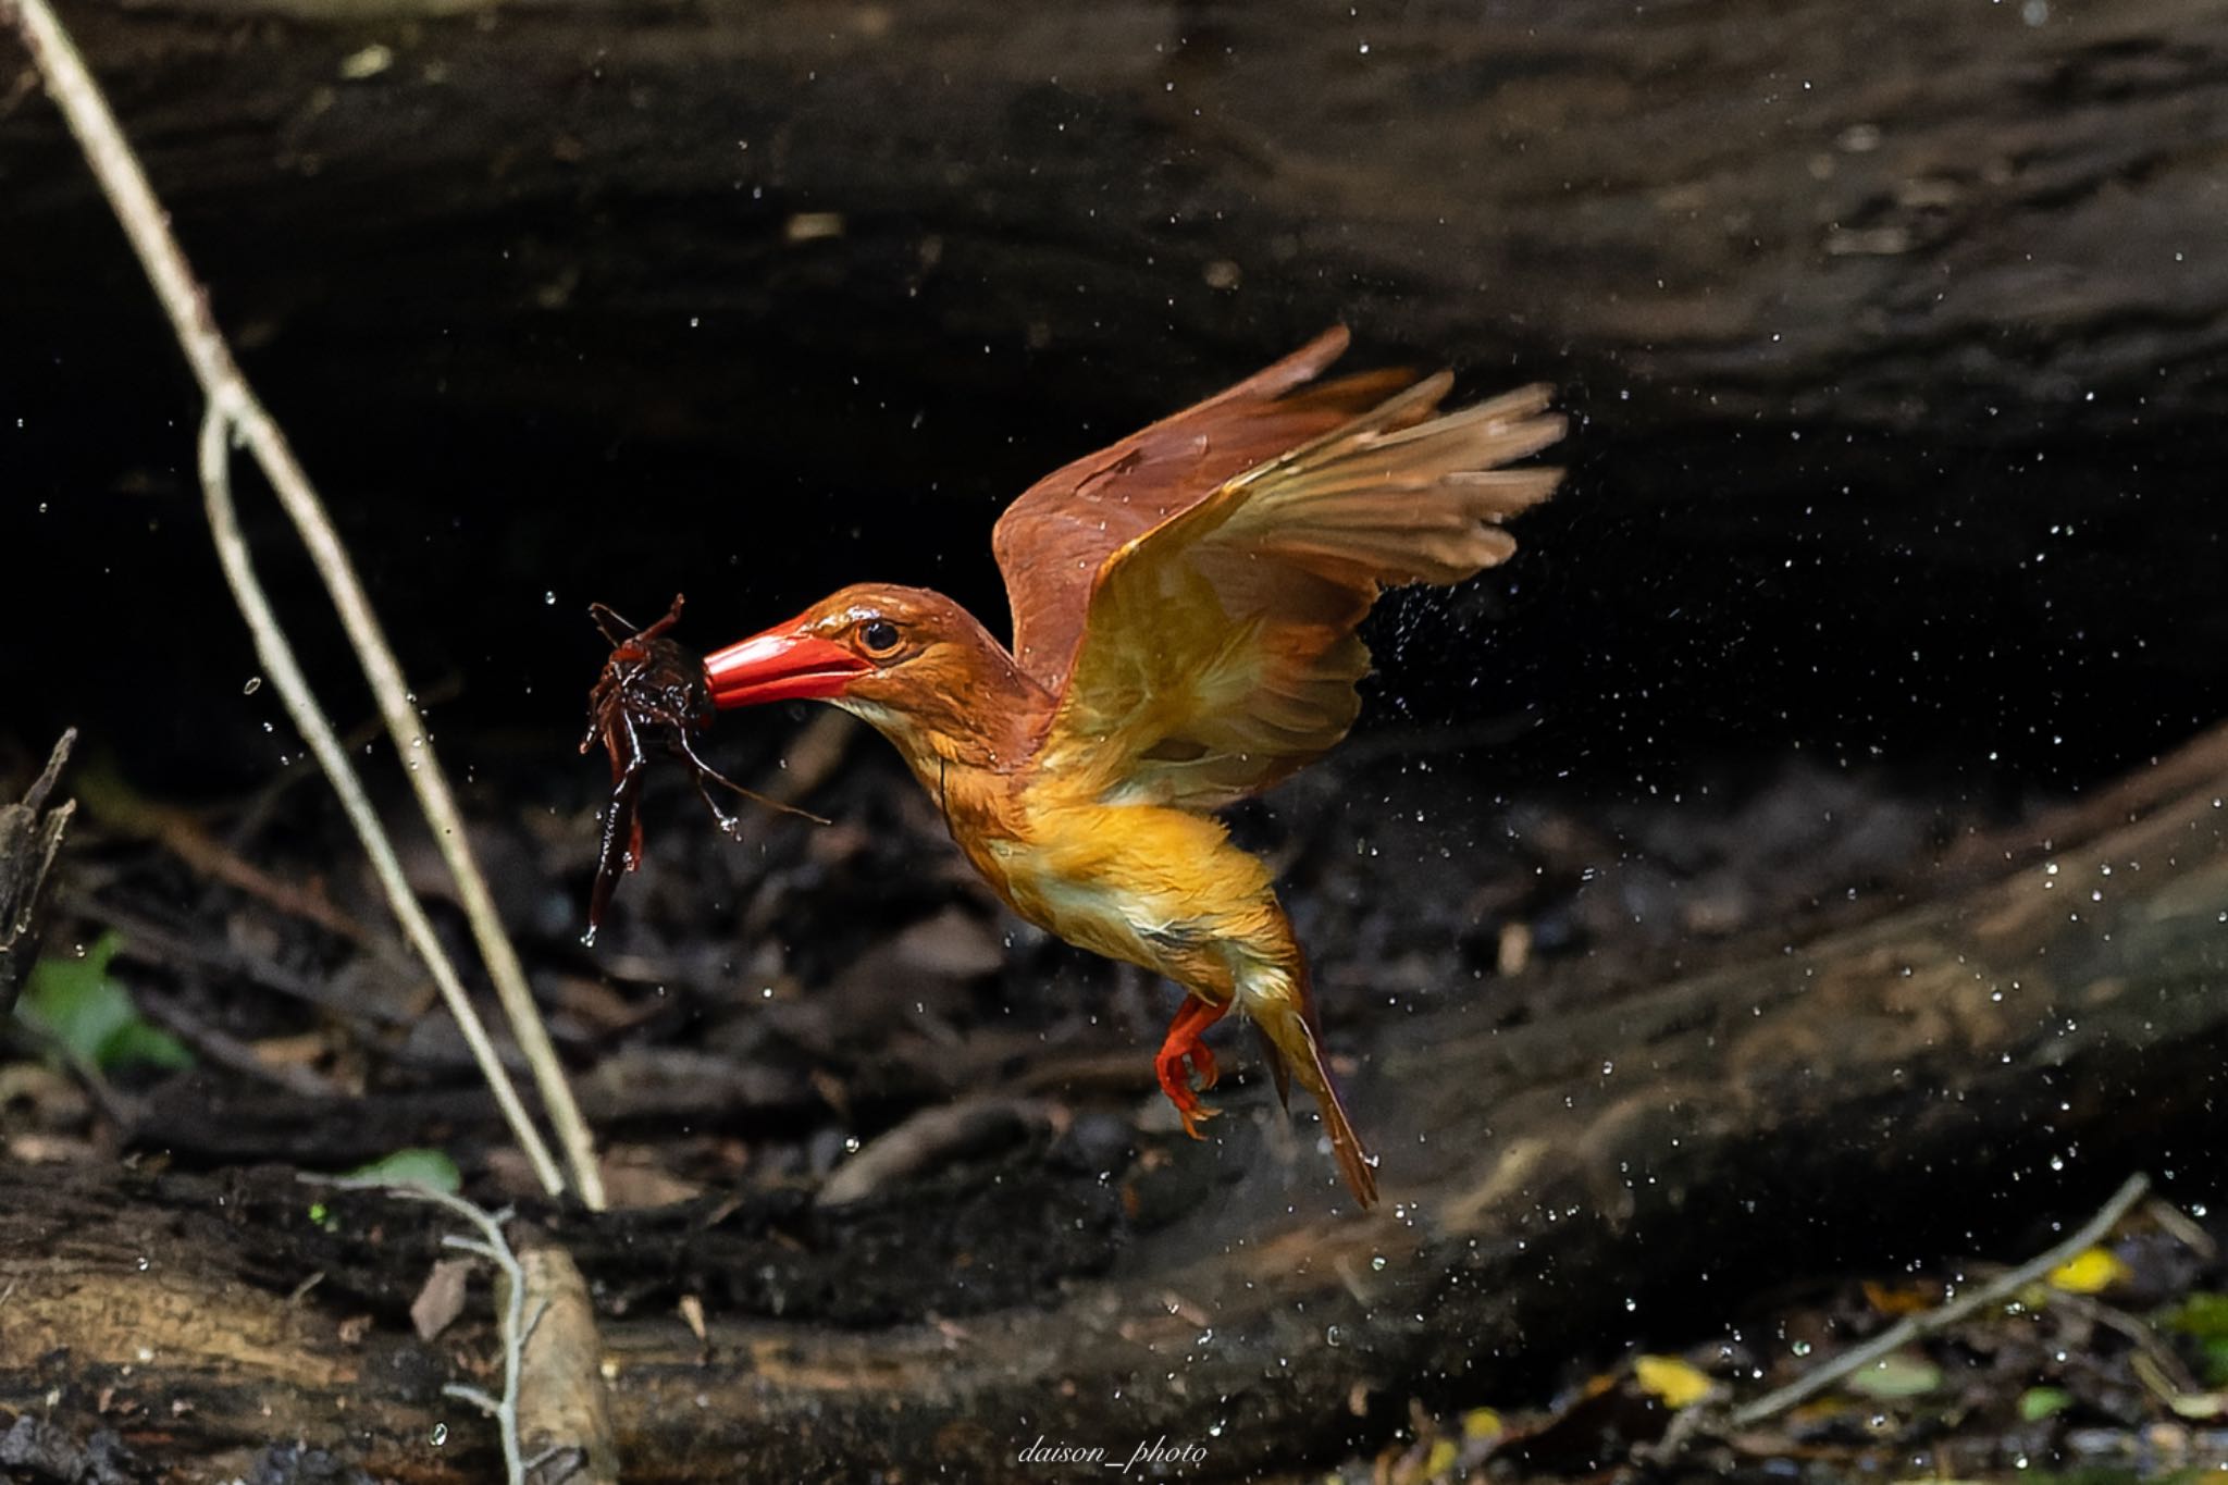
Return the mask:
POLYGON ((140 169, 129 142, 125 142, 123 129, 116 125, 116 116, 109 111, 100 87, 94 82, 91 71, 85 67, 85 58, 78 56, 76 45, 62 29, 60 18, 47 0, 0 0, 0 16, 7 16, 13 22, 18 33, 25 38, 25 45, 31 49, 31 58, 47 82, 49 96, 69 120, 69 129, 78 138, 78 145, 85 149, 85 160, 100 180, 100 191, 114 207, 125 236, 131 240, 131 249, 138 254, 140 267, 147 269, 156 298, 169 314, 172 330, 178 336, 178 347, 185 352, 185 358, 194 367, 194 376, 207 396, 207 412, 201 427, 201 476, 209 508, 209 525, 212 534, 216 534, 218 557, 225 563, 225 577, 232 581, 234 599, 254 630, 256 655, 272 670, 272 679, 276 681, 278 695, 287 706, 287 715, 294 717, 294 724, 303 730, 310 750, 316 753, 325 777, 332 779, 334 790, 341 795, 341 804, 348 810, 350 822, 356 826, 356 835, 363 839, 365 853, 372 857, 372 868, 379 875, 397 917, 401 917, 412 944, 426 957, 428 968, 432 968, 450 1011, 463 1029, 466 1042, 472 1044, 472 1055, 479 1060, 481 1073, 495 1089, 497 1102, 504 1104, 504 1115, 510 1120, 512 1135, 519 1140, 528 1160, 532 1160, 544 1187, 553 1193, 559 1191, 564 1187, 564 1178, 557 1173, 548 1149, 544 1147, 539 1133, 535 1133, 532 1122, 517 1100, 517 1091, 501 1071, 495 1049, 486 1037, 486 1029, 481 1029, 477 1015, 472 1015, 455 966, 448 962, 448 955, 432 935, 423 911, 417 906, 414 895, 403 882, 401 866, 394 862, 394 850, 385 844, 379 817, 370 808, 361 781, 356 781, 354 773, 345 766, 332 724, 325 721, 316 699, 310 695, 307 681, 294 663, 292 648, 272 614, 267 599, 254 581, 247 545, 241 539, 236 519, 232 517, 227 465, 229 443, 234 441, 256 456, 256 463, 270 479, 272 492, 278 496, 278 503, 294 521, 294 530, 301 534, 303 545, 310 550, 310 559, 314 561, 319 577, 325 581, 325 592, 332 597, 332 603, 341 614, 341 623, 348 628, 350 643, 356 650, 356 659, 363 666, 363 675, 370 681, 372 695, 377 697, 379 710, 388 724, 388 735, 401 753, 403 770, 410 777, 412 790, 417 790, 419 806, 423 808, 428 824, 432 826, 434 844, 441 848, 441 857, 448 862, 450 875, 457 879, 459 902, 472 924, 472 937, 479 944, 488 975, 495 982, 495 993, 504 1004, 510 1031, 535 1073, 535 1084, 539 1086, 541 1100, 557 1127, 557 1140, 564 1144, 566 1160, 570 1164, 573 1187, 588 1207, 602 1209, 604 1182, 597 1173, 588 1124, 579 1115, 579 1107, 575 1104, 573 1091, 564 1078, 564 1066, 557 1060, 557 1049, 550 1044, 548 1029, 541 1024, 541 1015, 535 1009, 532 991, 526 986, 526 971, 519 966, 517 948, 510 944, 510 937, 504 933, 501 919, 495 913, 495 899, 488 893, 486 877, 472 857, 470 839, 463 828, 463 815, 457 810, 455 795, 448 788, 448 777, 441 773, 441 764, 434 757, 432 739, 426 735, 426 721, 419 717, 417 704, 410 699, 410 690, 403 684, 401 663, 394 659, 394 652, 381 632, 379 617, 372 612, 372 603, 363 592, 363 583, 356 579, 354 563, 348 559, 348 550, 341 545, 339 532, 325 514, 323 501, 310 483, 307 472, 303 472, 301 463, 294 459, 294 450, 278 430, 278 423, 256 401, 254 390, 247 385, 247 376, 232 358, 232 347, 225 343, 223 332, 209 314, 209 298, 194 281, 185 252, 169 232, 167 214, 156 200, 154 189, 147 185, 147 174, 140 169))

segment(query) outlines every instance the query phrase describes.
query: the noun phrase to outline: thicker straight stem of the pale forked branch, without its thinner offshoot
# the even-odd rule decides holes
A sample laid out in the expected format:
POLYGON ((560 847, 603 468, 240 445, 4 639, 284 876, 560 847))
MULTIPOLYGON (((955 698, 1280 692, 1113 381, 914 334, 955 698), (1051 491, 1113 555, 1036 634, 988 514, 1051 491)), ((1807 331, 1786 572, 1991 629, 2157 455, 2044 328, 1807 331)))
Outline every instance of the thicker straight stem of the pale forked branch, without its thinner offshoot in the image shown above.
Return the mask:
MULTIPOLYGON (((441 857, 457 879, 457 895, 472 924, 472 937, 495 982, 495 993, 510 1017, 512 1035, 535 1073, 541 1102, 557 1127, 557 1140, 564 1144, 566 1162, 570 1164, 573 1187, 579 1191, 582 1202, 590 1209, 602 1209, 604 1182, 595 1164, 595 1144, 588 1135, 588 1124, 579 1115, 579 1104, 573 1100, 573 1089, 564 1078, 564 1064, 557 1060, 557 1049, 550 1044, 548 1029, 535 1009, 517 948, 504 933, 486 877, 472 859, 463 817, 448 788, 448 777, 434 759, 432 739, 426 737, 426 724, 403 684, 401 666, 379 628, 379 617, 372 612, 372 603, 356 579, 354 563, 348 559, 339 532, 334 532, 325 514, 323 501, 294 459, 294 450, 278 430, 278 423, 256 401, 245 374, 241 374, 238 363, 232 358, 232 347, 209 314, 209 298, 194 281, 185 252, 169 234, 169 218, 147 185, 147 174, 116 127, 116 116, 109 111, 100 87, 94 82, 91 71, 87 71, 85 58, 78 56, 60 18, 56 18, 47 0, 0 0, 0 16, 16 22, 25 45, 31 49, 31 60, 38 65, 40 76, 45 76, 47 91, 53 96, 56 107, 60 107, 71 134, 76 134, 87 165, 100 180, 102 194, 140 258, 140 267, 147 269, 147 278, 154 283, 156 298, 160 298, 165 314, 169 314, 178 347, 185 352, 203 394, 209 399, 209 412, 203 423, 203 474, 207 474, 212 463, 225 461, 225 443, 236 436, 254 452, 265 479, 270 479, 272 492, 310 550, 310 559, 325 581, 325 592, 332 597, 356 650, 363 675, 372 684, 372 695, 385 717, 388 732, 394 737, 410 786, 417 790, 419 808, 426 810, 426 819, 432 826, 434 844, 441 848, 441 857), (214 456, 209 452, 212 441, 216 448, 214 456)), ((212 508, 214 501, 216 496, 212 494, 212 508)), ((241 606, 243 610, 247 608, 245 597, 241 606)), ((276 626, 270 632, 276 635, 276 626)), ((258 650, 263 648, 261 641, 263 635, 258 632, 258 650)), ((270 661, 265 659, 265 663, 270 661)), ((307 699, 305 688, 301 695, 307 699)), ((294 710, 292 699, 290 710, 294 710)), ((301 712, 296 712, 299 721, 301 712)), ((330 741, 332 726, 321 724, 319 730, 330 741)), ((328 753, 323 748, 316 750, 319 761, 325 764, 328 753)), ((341 788, 339 775, 334 775, 330 764, 325 770, 334 777, 334 788, 341 788)), ((423 948, 426 944, 419 944, 421 953, 423 948)), ((428 960, 428 964, 434 964, 434 960, 428 960)), ((470 1031, 466 1031, 466 1037, 470 1040, 470 1031)), ((495 1086, 497 1098, 504 1098, 501 1084, 495 1086)), ((524 1138, 521 1144, 526 1144, 524 1138)), ((541 1162, 537 1162, 539 1167, 541 1162)), ((544 1182, 548 1182, 548 1176, 544 1176, 544 1182)))

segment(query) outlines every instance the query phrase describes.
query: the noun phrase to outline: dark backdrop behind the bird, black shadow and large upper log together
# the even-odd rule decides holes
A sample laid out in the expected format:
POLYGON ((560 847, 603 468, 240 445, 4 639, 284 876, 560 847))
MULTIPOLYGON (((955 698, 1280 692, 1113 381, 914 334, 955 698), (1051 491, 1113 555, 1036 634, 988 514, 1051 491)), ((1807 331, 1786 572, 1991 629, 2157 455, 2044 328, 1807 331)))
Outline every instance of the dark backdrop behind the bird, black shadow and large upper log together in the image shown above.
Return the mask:
MULTIPOLYGON (((1368 726, 1524 724, 1486 779, 1996 799, 2221 715, 2219 7, 1702 11, 74 22, 452 764, 546 750, 504 788, 561 773, 590 599, 711 646, 878 577, 1003 630, 1005 499, 1332 321, 1575 414, 1522 559, 1372 628, 1368 726)), ((0 728, 250 784, 294 744, 198 399, 22 89, 0 191, 0 728)))

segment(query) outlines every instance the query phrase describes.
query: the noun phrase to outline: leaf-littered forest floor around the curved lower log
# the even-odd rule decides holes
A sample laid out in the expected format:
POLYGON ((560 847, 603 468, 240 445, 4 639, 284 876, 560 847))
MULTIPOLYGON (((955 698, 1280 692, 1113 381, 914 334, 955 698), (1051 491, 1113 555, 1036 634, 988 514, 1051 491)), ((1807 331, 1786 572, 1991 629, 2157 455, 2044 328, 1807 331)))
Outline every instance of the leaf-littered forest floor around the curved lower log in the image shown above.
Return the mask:
MULTIPOLYGON (((1239 837, 1279 866, 1315 951, 1335 1049, 1372 1017, 1455 1002, 1482 1026, 1522 1024, 1569 997, 1704 968, 1758 933, 1876 917, 1985 859, 2039 804, 1929 797, 1805 757, 1624 799, 1495 793, 1475 768, 1488 741, 1379 730, 1239 813, 1239 837)), ((659 777, 646 859, 595 948, 579 928, 599 766, 546 739, 472 744, 475 777, 506 781, 468 790, 475 846, 577 1071, 617 1207, 704 1209, 833 1180, 858 1196, 934 1193, 956 1164, 1078 1162, 1121 1200, 1047 1262, 1092 1271, 1161 1220, 1152 1171, 1205 1158, 1152 1082, 1167 986, 1005 915, 934 806, 849 721, 807 721, 778 761, 755 755, 755 781, 827 826, 746 810, 742 837, 726 839, 680 775, 659 777), (1000 1095, 1007 1118, 853 1164, 960 1095, 1000 1095)), ((254 797, 192 808, 138 795, 98 759, 69 781, 85 813, 25 997, 49 1033, 18 1031, 18 1058, 0 1062, 7 1160, 348 1171, 437 1149, 483 1200, 532 1196, 305 759, 254 797), (74 1066, 56 1042, 78 1049, 74 1066)), ((461 948, 430 844, 408 866, 461 948)), ((1753 1294, 1718 1285, 1664 1329, 1635 1322, 1606 1345, 1580 1334, 1557 1351, 1540 1336, 1533 1394, 1442 1389, 1446 1407, 1415 1407, 1397 1443, 1330 1478, 2105 1481, 2228 1465, 2219 1222, 2159 1198, 2070 1267, 1800 1407, 1693 1436, 1678 1423, 1698 1403, 1800 1376, 2083 1216, 2059 1211, 2027 1251, 1912 1253, 1894 1271, 1827 1265, 1753 1294)), ((1883 1220, 1894 1220, 1887 1196, 1883 1220)), ((838 1322, 951 1309, 936 1278, 891 1258, 860 1253, 856 1291, 818 1302, 838 1322)), ((624 1311, 680 1287, 715 1307, 784 1302, 746 1278, 702 1276, 615 1285, 602 1300, 624 1311)), ((989 1285, 969 1302, 1025 1298, 989 1285)), ((0 1478, 71 1478, 56 1458, 18 1434, 0 1478)))

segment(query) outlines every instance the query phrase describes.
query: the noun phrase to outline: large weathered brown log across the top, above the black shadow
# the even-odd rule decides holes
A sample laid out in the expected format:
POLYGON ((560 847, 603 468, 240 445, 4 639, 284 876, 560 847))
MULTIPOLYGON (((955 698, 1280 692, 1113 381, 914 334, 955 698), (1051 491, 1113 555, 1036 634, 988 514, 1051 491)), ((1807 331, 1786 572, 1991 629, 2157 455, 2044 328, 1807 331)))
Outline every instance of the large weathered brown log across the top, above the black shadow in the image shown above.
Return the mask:
MULTIPOLYGON (((1359 314, 1479 363, 1624 367, 1724 421, 2221 412, 2217 0, 443 9, 71 9, 256 341, 350 325, 377 358, 390 296, 432 292, 497 298, 512 334, 740 312, 804 350, 829 296, 918 289, 889 361, 1018 334, 1127 354, 1145 316, 1243 363, 1359 314)), ((16 98, 0 158, 11 272, 98 234, 45 109, 16 98)), ((82 307, 71 278, 38 276, 82 307)), ((664 405, 680 365, 575 394, 733 436, 731 347, 697 341, 659 336, 709 374, 691 403, 664 405)), ((388 381, 352 361, 345 385, 365 372, 388 381)), ((548 410, 517 381, 539 367, 470 372, 452 396, 548 410)))

